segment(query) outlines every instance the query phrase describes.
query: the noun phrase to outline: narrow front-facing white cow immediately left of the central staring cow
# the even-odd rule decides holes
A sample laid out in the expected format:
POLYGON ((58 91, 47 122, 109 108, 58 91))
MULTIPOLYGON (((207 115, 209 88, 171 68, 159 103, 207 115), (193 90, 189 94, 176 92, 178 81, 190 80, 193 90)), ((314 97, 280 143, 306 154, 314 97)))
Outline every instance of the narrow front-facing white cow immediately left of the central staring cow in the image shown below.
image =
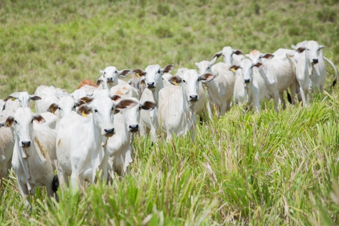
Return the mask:
POLYGON ((152 111, 140 113, 140 134, 146 135, 151 132, 153 142, 157 141, 159 91, 164 88, 162 76, 164 73, 169 73, 173 67, 174 64, 168 64, 164 68, 161 68, 159 64, 153 64, 147 66, 145 71, 142 69, 133 70, 138 76, 145 76, 147 89, 144 90, 140 102, 152 101, 157 104, 157 107, 152 111))

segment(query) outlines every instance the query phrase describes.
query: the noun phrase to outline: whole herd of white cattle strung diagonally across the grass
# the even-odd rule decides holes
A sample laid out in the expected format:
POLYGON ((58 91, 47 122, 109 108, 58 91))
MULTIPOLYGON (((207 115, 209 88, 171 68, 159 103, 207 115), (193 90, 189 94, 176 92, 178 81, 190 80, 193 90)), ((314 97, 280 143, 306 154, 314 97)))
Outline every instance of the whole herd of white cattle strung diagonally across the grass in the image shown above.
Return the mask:
MULTIPOLYGON (((160 136, 190 135, 194 139, 196 114, 217 117, 232 104, 260 110, 265 98, 285 108, 283 92, 290 89, 307 106, 311 91, 324 90, 326 78, 322 48, 316 41, 303 41, 293 49, 273 54, 253 50, 244 55, 226 46, 210 61, 195 63, 198 70, 174 65, 149 65, 145 70, 101 70, 96 84, 83 80, 73 93, 53 86, 39 86, 34 95, 15 92, 0 101, 0 180, 13 168, 21 196, 45 186, 53 196, 57 186, 79 188, 102 179, 123 176, 133 161, 136 132, 160 136), (224 62, 215 64, 218 57, 224 62), (118 79, 132 73, 128 82, 118 79), (206 90, 205 90, 206 88, 206 90), (233 98, 233 101, 232 101, 233 98), (35 113, 29 108, 35 101, 35 113), (114 120, 113 120, 114 118, 114 120), (57 176, 54 176, 57 171, 57 176)), ((335 84, 335 82, 334 82, 335 84)))

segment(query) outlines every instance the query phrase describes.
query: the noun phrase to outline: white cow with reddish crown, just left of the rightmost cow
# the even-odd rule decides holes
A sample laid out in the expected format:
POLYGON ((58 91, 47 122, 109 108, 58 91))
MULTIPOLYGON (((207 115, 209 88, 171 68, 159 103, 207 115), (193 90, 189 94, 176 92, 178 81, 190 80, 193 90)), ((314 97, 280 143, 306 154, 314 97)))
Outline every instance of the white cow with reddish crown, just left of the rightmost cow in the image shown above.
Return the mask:
POLYGON ((254 71, 259 70, 267 88, 273 94, 274 107, 277 112, 279 112, 279 99, 283 104, 283 109, 286 108, 283 92, 288 88, 291 90, 291 103, 295 104, 297 82, 295 67, 292 59, 286 56, 290 52, 291 50, 288 49, 278 49, 275 54, 271 54, 253 50, 246 54, 253 64, 260 62, 264 65, 262 68, 255 68, 254 71))

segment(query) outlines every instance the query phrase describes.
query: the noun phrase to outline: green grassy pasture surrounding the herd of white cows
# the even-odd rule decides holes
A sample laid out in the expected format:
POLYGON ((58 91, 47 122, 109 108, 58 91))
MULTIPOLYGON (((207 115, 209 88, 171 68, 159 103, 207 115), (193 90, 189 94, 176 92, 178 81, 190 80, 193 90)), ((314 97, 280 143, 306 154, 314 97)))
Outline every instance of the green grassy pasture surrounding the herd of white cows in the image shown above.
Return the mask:
MULTIPOLYGON (((337 0, 0 0, 0 92, 69 92, 99 70, 194 68, 223 46, 274 52, 303 40, 339 65, 337 0)), ((328 64, 327 64, 328 65, 328 64)), ((14 172, 0 188, 0 225, 338 225, 339 88, 308 108, 273 101, 197 125, 187 138, 135 140, 131 173, 81 195, 38 189, 23 208, 14 172)), ((172 106, 175 108, 175 106, 172 106)))

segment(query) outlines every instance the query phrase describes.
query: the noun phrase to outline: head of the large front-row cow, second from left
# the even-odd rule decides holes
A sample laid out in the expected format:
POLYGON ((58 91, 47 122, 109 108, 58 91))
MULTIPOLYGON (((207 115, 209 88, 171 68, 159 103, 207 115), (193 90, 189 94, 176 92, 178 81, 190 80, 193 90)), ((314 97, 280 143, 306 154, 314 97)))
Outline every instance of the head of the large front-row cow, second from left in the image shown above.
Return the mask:
POLYGON ((138 102, 132 99, 122 99, 114 103, 110 97, 101 97, 94 99, 90 104, 81 105, 77 113, 84 117, 92 113, 94 123, 100 128, 101 135, 111 137, 115 133, 113 127, 113 110, 125 111, 137 104, 138 102))

